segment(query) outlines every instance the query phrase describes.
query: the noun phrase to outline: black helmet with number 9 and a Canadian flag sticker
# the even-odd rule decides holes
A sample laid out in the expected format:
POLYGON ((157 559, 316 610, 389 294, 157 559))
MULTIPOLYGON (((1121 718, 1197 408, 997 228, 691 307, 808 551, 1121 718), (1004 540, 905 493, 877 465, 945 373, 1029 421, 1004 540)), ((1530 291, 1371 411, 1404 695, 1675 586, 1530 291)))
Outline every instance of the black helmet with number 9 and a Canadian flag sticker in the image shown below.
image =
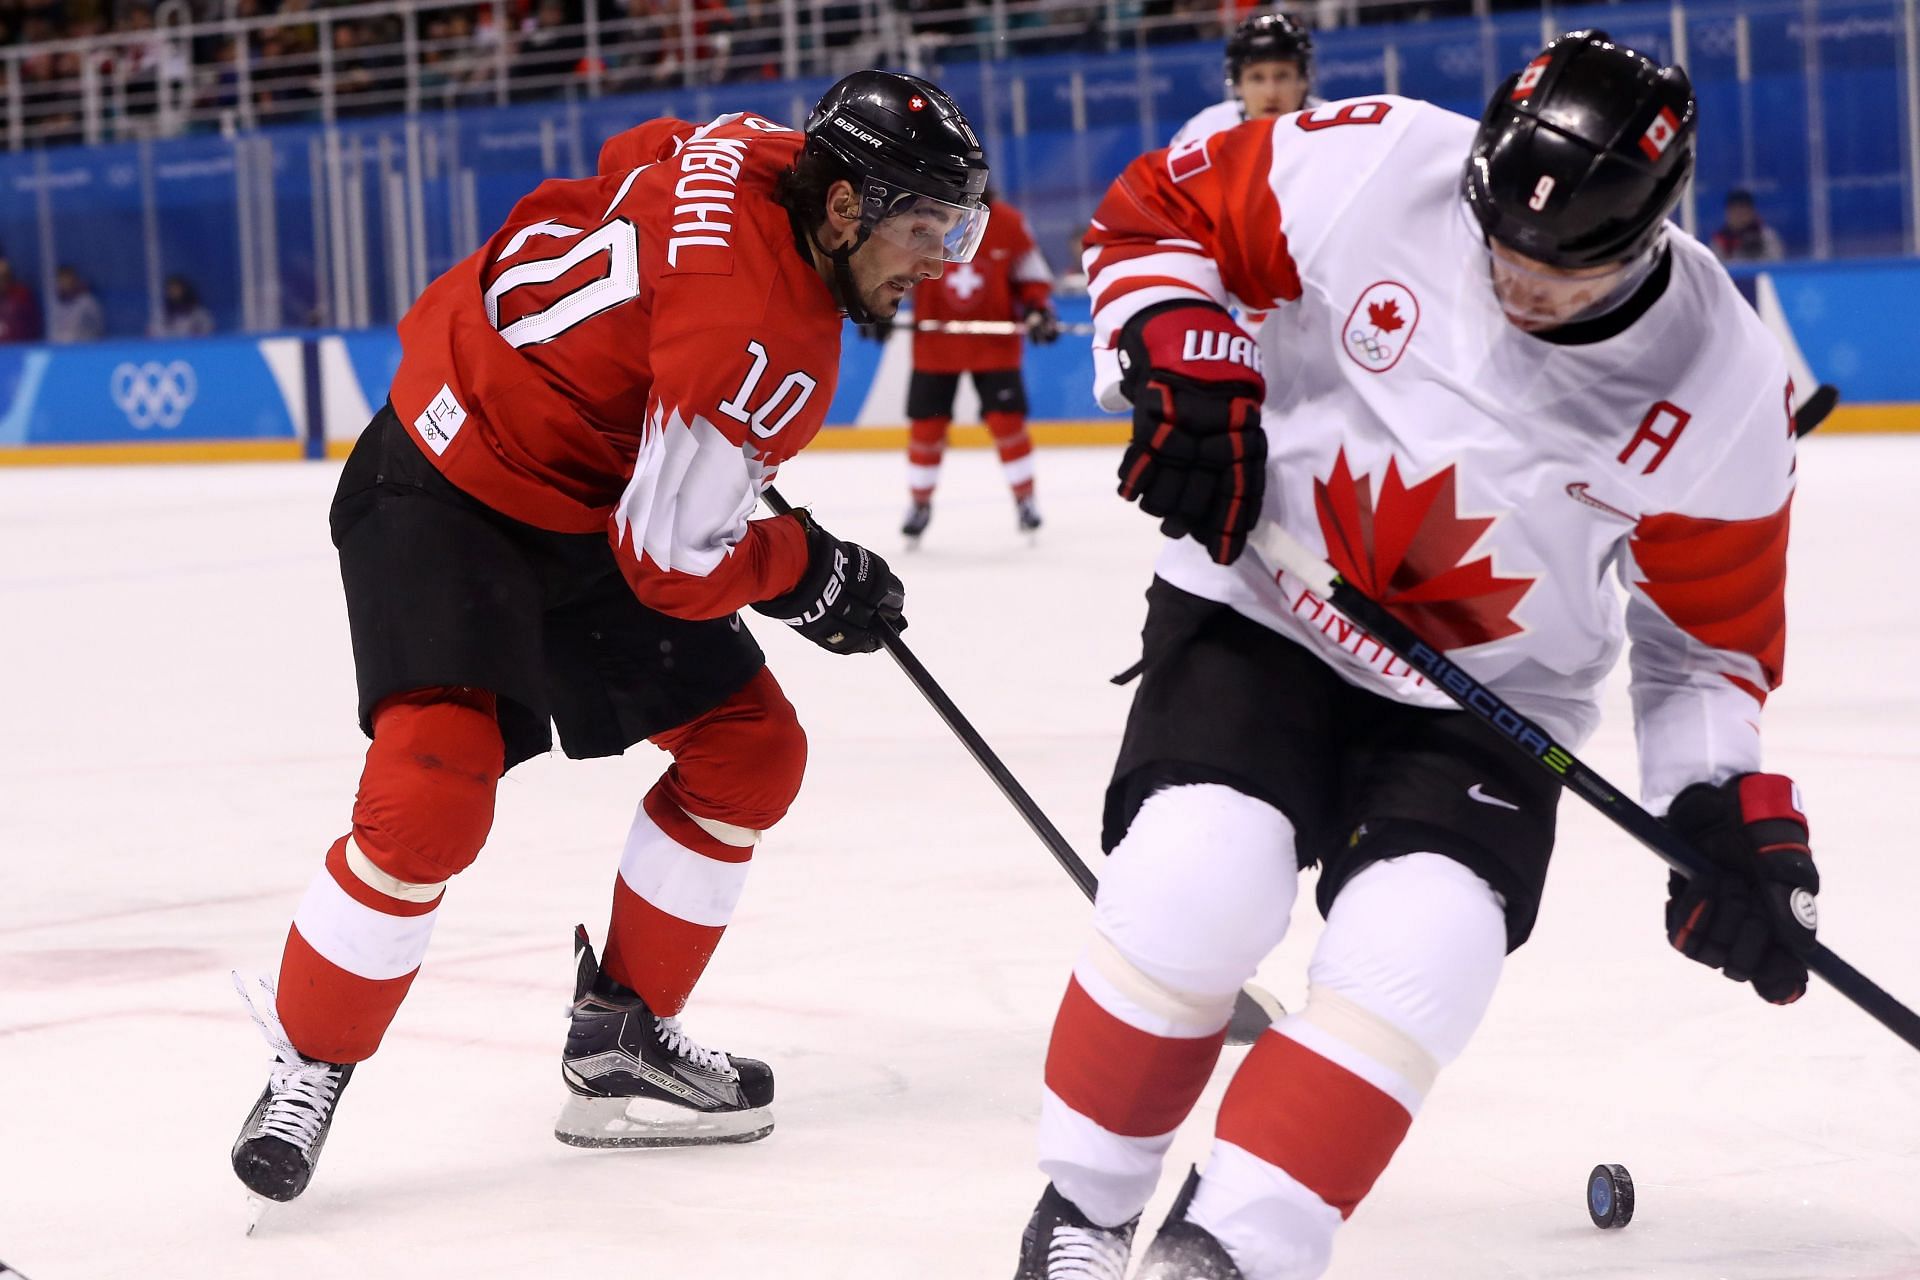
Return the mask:
POLYGON ((1551 267, 1632 259, 1693 175, 1693 113, 1680 67, 1569 31, 1494 90, 1467 205, 1490 240, 1551 267))

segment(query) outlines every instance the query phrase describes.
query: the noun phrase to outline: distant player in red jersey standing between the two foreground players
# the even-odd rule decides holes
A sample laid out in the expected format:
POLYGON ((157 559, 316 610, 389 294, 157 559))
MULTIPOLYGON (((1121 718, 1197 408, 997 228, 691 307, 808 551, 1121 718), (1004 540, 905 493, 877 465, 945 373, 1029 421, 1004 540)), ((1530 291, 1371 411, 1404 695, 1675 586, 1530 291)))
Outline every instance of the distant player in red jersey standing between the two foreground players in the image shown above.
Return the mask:
MULTIPOLYGON (((973 261, 914 290, 914 376, 906 384, 906 487, 912 501, 900 524, 900 532, 914 539, 933 520, 933 486, 941 476, 960 374, 970 374, 979 391, 981 416, 1014 491, 1020 528, 1041 528, 1041 505, 1033 497, 1027 388, 1020 376, 1021 334, 972 334, 960 326, 981 320, 1018 324, 1027 342, 1044 345, 1058 340, 1054 276, 1020 209, 987 192, 987 236, 973 261), (929 324, 952 324, 956 332, 924 328, 929 324)), ((887 328, 881 322, 870 332, 883 334, 887 328)))

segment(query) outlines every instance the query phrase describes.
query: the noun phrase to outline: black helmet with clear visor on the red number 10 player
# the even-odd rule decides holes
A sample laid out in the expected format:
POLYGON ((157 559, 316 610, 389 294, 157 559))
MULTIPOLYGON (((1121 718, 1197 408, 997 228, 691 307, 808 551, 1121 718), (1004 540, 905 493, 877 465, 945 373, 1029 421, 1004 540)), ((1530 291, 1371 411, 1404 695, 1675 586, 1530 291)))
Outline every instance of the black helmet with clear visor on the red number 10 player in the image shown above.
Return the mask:
POLYGON ((929 257, 964 263, 987 230, 987 152, 937 84, 897 71, 854 71, 806 119, 806 150, 829 155, 860 190, 860 240, 916 203, 945 226, 929 257))

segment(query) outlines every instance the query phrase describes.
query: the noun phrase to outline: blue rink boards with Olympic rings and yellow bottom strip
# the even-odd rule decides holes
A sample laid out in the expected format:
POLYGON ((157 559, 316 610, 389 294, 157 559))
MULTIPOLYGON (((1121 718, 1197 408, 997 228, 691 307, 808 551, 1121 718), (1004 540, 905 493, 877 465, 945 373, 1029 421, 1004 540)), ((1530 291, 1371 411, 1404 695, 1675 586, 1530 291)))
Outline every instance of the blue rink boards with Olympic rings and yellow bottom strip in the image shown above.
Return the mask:
MULTIPOLYGON (((1797 380, 1841 390, 1828 432, 1920 430, 1920 261, 1795 263, 1736 273, 1789 345, 1797 380)), ((1062 299, 1085 320, 1087 299, 1062 299)), ((0 345, 0 464, 301 459, 342 455, 386 397, 399 363, 392 330, 298 332, 180 342, 0 345)), ((904 445, 910 336, 885 344, 852 326, 829 430, 814 447, 904 445)), ((1085 340, 1033 347, 1025 365, 1039 443, 1117 443, 1125 422, 1092 399, 1085 340)), ((962 384, 956 422, 977 422, 962 384)), ((956 443, 985 443, 960 428, 956 443)))

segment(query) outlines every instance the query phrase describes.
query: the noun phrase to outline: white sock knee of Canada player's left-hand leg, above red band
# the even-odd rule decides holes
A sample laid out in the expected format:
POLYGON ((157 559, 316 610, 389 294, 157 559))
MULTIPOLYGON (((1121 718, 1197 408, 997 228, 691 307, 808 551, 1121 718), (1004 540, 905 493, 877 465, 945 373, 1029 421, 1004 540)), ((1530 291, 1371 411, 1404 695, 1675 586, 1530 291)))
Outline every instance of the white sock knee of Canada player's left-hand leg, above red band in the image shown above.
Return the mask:
POLYGON ((1092 923, 1154 983, 1231 998, 1286 936, 1298 877, 1277 808, 1217 783, 1167 787, 1108 858, 1092 923))

